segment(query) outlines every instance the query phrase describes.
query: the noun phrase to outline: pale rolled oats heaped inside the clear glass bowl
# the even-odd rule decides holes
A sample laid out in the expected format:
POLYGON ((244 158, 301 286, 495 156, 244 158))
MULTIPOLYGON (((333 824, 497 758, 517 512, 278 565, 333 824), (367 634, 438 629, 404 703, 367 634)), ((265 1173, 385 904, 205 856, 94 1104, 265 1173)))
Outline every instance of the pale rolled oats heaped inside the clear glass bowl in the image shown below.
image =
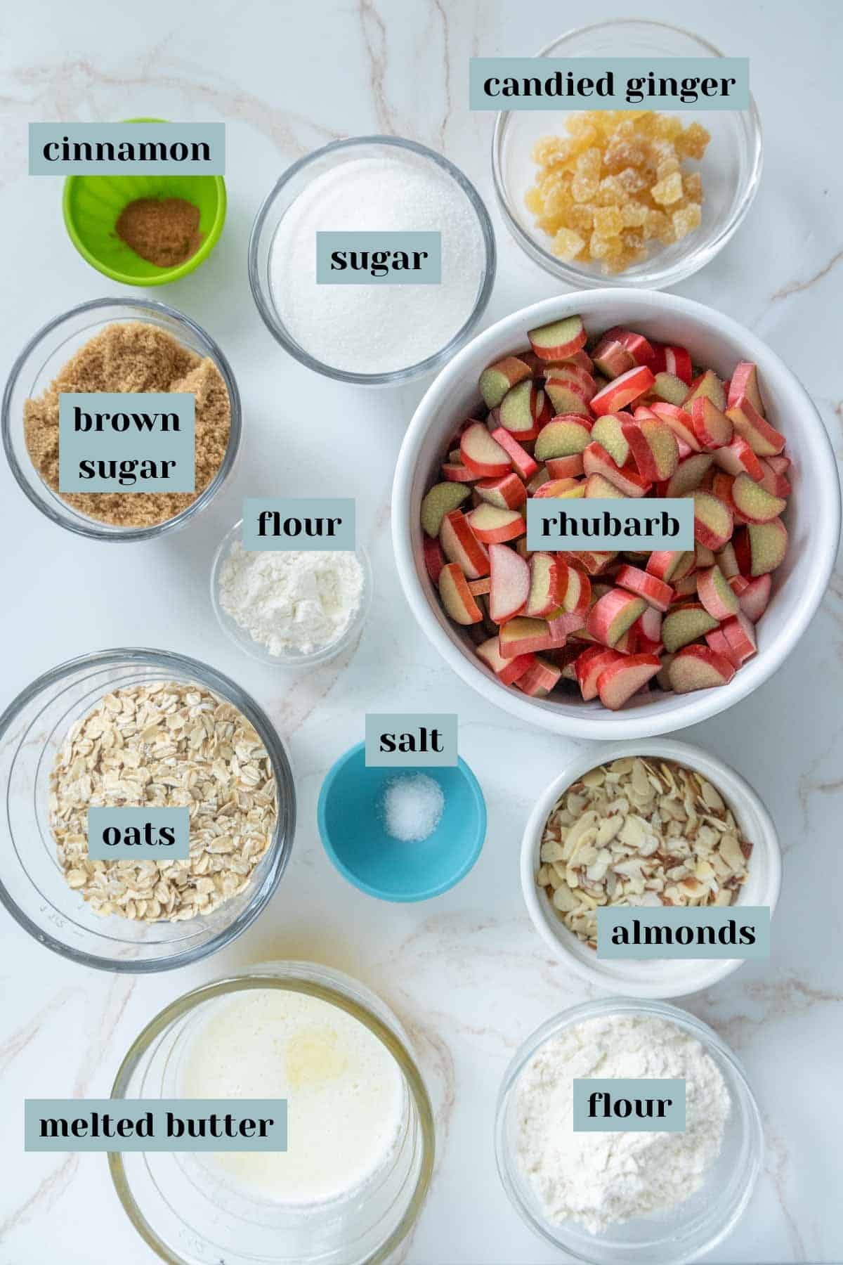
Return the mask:
POLYGON ((76 721, 51 773, 49 826, 70 887, 95 913, 157 922, 243 892, 277 821, 272 763, 231 703, 178 682, 106 694, 76 721), (190 808, 186 861, 91 860, 87 810, 190 808))

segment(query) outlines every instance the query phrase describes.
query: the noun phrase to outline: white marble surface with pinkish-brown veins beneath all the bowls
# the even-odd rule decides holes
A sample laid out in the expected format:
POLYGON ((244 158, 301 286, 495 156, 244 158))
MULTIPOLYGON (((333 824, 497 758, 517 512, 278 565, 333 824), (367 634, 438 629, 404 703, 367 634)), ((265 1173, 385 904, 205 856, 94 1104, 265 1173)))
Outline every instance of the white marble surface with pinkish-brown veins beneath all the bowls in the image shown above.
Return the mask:
MULTIPOLYGON (((626 6, 614 6, 626 8, 626 6)), ((677 287, 755 328, 814 393, 839 452, 839 9, 803 0, 645 5, 725 52, 752 58, 766 167, 737 237, 677 287), (837 32, 832 29, 837 27, 837 32), (837 34, 838 38, 834 38, 837 34), (794 104, 796 102, 796 104, 794 104)), ((144 0, 27 0, 0 40, 0 230, 5 243, 0 364, 42 323, 114 293, 76 254, 61 185, 25 175, 30 120, 163 115, 225 120, 229 218, 192 277, 157 297, 182 307, 230 357, 245 406, 236 478, 190 530, 148 545, 97 545, 63 533, 0 469, 3 641, 0 706, 33 677, 110 645, 185 651, 230 673, 267 708, 297 775, 292 863, 253 930, 196 969, 150 979, 86 972, 34 945, 4 916, 0 1265, 148 1265, 101 1156, 24 1155, 27 1095, 106 1095, 131 1037, 192 984, 269 956, 305 956, 359 975, 402 1016, 436 1104, 434 1188, 403 1256, 412 1265, 536 1265, 559 1255, 511 1209, 494 1168, 492 1120, 519 1041, 588 990, 551 963, 518 889, 517 853, 535 796, 574 744, 517 726, 440 662, 416 630, 392 563, 388 506, 401 438, 422 386, 355 392, 316 378, 273 343, 245 272, 260 199, 292 159, 335 137, 387 132, 444 149, 487 197, 499 273, 485 321, 559 287, 508 239, 493 205, 492 116, 465 109, 471 53, 531 53, 583 14, 554 0, 359 0, 212 6, 144 0), (212 20, 209 20, 212 14, 212 20), (310 419, 301 424, 302 412, 310 419), (354 495, 377 573, 374 610, 354 654, 310 674, 264 668, 217 630, 211 555, 244 493, 354 495), (440 899, 388 906, 354 892, 316 834, 316 797, 332 760, 361 736, 363 713, 459 710, 461 753, 485 791, 489 834, 470 877, 440 899)), ((779 677, 731 712, 686 731, 757 787, 785 846, 768 963, 747 964, 688 1001, 744 1061, 767 1130, 765 1173, 717 1261, 843 1259, 837 1130, 843 573, 779 677)), ((4 844, 5 846, 5 844, 4 844)))

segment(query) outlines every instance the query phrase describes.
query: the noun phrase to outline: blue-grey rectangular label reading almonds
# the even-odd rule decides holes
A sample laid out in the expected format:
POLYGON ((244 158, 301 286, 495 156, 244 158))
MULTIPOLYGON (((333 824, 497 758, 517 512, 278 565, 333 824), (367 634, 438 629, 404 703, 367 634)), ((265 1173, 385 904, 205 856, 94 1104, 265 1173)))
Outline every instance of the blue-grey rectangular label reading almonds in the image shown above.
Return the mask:
POLYGON ((598 958, 770 956, 770 906, 602 906, 598 958))

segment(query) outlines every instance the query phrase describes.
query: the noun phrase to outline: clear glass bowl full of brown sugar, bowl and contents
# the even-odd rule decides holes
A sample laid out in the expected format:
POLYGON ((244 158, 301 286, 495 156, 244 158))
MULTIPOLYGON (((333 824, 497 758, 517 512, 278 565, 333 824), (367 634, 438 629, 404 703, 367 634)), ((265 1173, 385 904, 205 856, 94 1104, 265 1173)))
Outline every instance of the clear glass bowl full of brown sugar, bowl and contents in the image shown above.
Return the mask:
POLYGON ((190 522, 230 476, 240 447, 240 395, 225 355, 188 316, 150 299, 95 299, 56 316, 27 343, 6 382, 1 429, 14 477, 48 519, 94 540, 145 540, 190 522), (136 491, 126 483, 109 492, 59 492, 58 411, 67 392, 192 393, 193 491, 136 491))

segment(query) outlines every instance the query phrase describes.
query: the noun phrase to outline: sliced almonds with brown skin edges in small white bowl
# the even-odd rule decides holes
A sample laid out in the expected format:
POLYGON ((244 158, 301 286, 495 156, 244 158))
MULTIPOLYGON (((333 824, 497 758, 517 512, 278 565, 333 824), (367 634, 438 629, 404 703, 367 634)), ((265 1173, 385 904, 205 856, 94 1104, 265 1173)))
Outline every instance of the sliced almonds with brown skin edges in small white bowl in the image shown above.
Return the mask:
POLYGON ((624 756, 590 769, 545 824, 536 883, 597 949, 599 906, 732 904, 752 844, 700 773, 624 756))

